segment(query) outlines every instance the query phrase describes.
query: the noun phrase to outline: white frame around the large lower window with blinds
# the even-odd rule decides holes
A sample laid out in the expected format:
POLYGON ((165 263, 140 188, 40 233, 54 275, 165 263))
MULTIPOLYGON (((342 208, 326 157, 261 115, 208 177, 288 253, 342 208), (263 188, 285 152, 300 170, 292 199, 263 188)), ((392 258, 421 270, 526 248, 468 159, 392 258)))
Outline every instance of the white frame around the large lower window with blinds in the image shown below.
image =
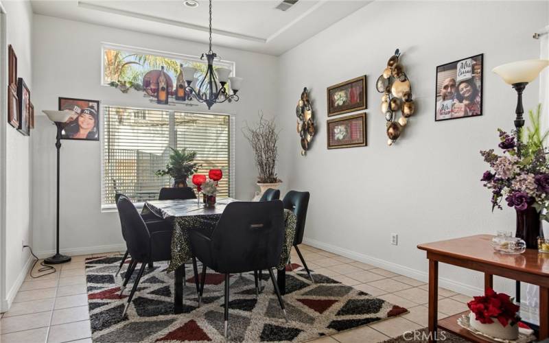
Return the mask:
MULTIPOLYGON (((100 173, 100 187, 101 187, 101 196, 100 196, 100 206, 102 212, 115 212, 117 211, 116 204, 103 204, 103 187, 104 185, 104 171, 105 171, 105 108, 109 106, 117 106, 117 107, 124 107, 124 108, 133 108, 137 110, 159 110, 161 108, 154 108, 154 107, 143 107, 143 106, 121 106, 116 104, 101 104, 100 105, 100 113, 102 120, 100 121, 101 125, 101 131, 103 134, 101 135, 100 141, 101 141, 101 173, 100 173)), ((235 195, 235 182, 236 182, 236 176, 235 176, 235 114, 234 113, 219 113, 219 112, 203 112, 203 111, 196 111, 196 110, 185 110, 185 109, 170 109, 168 112, 174 111, 174 112, 183 112, 183 113, 196 113, 198 115, 224 115, 229 116, 229 174, 231 175, 231 182, 229 183, 229 197, 233 197, 235 195)), ((160 191, 160 189, 159 189, 160 191)), ((135 202, 135 207, 141 211, 143 208, 144 202, 135 202)))

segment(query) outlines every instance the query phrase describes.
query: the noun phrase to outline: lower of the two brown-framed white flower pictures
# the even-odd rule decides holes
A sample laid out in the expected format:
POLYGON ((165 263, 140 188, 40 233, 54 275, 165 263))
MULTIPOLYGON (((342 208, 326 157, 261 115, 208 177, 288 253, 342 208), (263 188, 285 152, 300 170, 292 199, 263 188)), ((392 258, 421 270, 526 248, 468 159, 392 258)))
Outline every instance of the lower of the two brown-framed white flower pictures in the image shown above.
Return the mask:
POLYGON ((328 119, 328 149, 366 146, 366 113, 328 119))

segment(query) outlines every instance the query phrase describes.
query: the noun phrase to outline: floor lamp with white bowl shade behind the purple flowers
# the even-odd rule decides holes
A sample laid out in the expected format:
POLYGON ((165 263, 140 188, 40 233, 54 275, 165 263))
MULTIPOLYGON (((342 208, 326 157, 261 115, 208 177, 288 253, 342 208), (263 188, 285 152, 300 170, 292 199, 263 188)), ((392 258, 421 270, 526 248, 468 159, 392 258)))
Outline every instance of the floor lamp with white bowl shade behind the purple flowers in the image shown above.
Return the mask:
MULTIPOLYGON (((517 108, 515 114, 515 128, 517 129, 517 142, 520 142, 521 130, 524 126, 524 108, 522 107, 522 92, 526 85, 537 78, 537 75, 549 65, 549 60, 525 60, 502 64, 492 69, 501 76, 506 84, 511 84, 517 91, 517 108)), ((517 152, 521 156, 520 145, 517 152)), ((520 303, 520 281, 515 281, 515 301, 520 303)))

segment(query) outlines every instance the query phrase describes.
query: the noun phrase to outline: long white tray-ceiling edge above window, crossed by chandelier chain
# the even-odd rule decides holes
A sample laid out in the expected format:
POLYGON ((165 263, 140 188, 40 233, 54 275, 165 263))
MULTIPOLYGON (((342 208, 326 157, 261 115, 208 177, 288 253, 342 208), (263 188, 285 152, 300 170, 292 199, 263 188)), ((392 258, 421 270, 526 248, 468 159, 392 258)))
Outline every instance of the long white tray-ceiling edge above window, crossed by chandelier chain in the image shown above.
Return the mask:
MULTIPOLYGON (((141 13, 131 12, 131 11, 127 11, 127 10, 119 10, 117 8, 110 8, 110 7, 107 7, 107 6, 96 5, 95 3, 89 3, 87 1, 78 1, 78 7, 87 8, 89 10, 96 10, 96 11, 100 11, 100 12, 111 13, 111 14, 119 14, 121 16, 130 16, 132 18, 143 19, 145 21, 153 21, 153 22, 156 22, 156 23, 174 25, 174 26, 178 26, 178 27, 185 27, 187 29, 194 29, 194 30, 202 31, 202 32, 209 32, 209 27, 206 27, 206 26, 195 25, 195 24, 191 24, 191 23, 185 23, 183 21, 174 21, 174 20, 171 20, 171 19, 160 18, 158 16, 150 16, 148 14, 141 14, 141 13)), ((307 12, 309 12, 309 11, 307 11, 307 12)), ((239 38, 239 39, 242 39, 242 40, 250 40, 252 42, 257 42, 257 43, 267 43, 267 41, 268 41, 266 38, 248 36, 246 34, 237 34, 235 32, 225 31, 225 30, 222 30, 222 29, 211 29, 211 32, 213 32, 214 34, 219 34, 221 36, 239 38)))

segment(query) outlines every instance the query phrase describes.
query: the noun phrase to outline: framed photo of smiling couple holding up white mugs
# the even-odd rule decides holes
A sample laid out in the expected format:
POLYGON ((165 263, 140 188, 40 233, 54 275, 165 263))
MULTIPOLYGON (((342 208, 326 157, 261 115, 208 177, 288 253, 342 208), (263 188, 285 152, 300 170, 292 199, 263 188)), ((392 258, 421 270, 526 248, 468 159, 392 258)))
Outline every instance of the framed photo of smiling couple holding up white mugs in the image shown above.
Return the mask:
POLYGON ((483 56, 436 67, 435 121, 482 115, 483 56))

